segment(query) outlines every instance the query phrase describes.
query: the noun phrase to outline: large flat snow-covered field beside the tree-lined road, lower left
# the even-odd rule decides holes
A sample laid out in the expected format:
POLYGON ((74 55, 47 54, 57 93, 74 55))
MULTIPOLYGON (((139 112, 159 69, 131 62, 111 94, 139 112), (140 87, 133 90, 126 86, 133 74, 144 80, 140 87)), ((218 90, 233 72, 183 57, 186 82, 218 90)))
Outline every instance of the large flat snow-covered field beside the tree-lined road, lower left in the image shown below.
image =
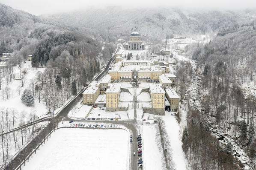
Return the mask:
POLYGON ((59 129, 23 170, 128 170, 125 130, 59 129), (118 146, 118 147, 117 147, 118 146))

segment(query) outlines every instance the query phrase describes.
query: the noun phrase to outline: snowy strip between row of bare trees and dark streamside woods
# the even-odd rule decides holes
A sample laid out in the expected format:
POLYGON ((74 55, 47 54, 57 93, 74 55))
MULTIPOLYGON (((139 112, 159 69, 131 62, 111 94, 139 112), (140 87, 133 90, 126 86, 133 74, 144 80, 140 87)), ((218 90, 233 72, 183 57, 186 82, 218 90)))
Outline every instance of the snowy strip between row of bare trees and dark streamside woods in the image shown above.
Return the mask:
POLYGON ((182 141, 179 139, 179 125, 177 124, 174 115, 171 115, 170 112, 165 112, 165 116, 161 117, 165 121, 166 131, 169 135, 171 148, 173 150, 173 162, 175 163, 176 170, 186 170, 185 154, 182 150, 182 141))

